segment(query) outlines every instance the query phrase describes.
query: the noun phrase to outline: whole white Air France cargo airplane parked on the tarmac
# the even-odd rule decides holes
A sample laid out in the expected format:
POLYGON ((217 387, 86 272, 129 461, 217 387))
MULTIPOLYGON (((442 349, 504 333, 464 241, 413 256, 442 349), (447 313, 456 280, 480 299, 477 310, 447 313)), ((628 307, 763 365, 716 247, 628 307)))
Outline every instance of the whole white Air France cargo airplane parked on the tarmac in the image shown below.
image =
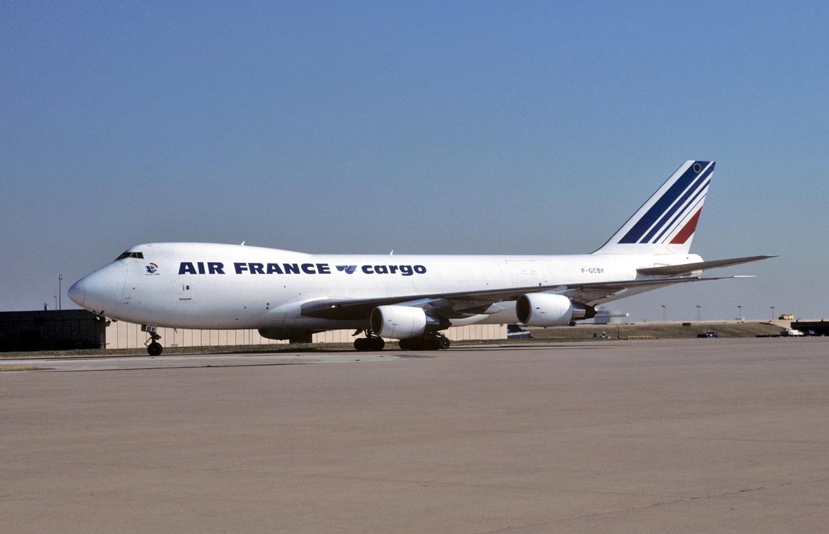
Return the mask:
POLYGON ((444 330, 474 323, 574 325, 605 302, 659 287, 736 277, 705 269, 773 256, 703 261, 689 253, 714 161, 686 161, 607 243, 560 256, 308 254, 218 243, 147 243, 76 281, 69 297, 101 318, 159 326, 257 329, 310 341, 355 330, 354 348, 447 349, 444 330))

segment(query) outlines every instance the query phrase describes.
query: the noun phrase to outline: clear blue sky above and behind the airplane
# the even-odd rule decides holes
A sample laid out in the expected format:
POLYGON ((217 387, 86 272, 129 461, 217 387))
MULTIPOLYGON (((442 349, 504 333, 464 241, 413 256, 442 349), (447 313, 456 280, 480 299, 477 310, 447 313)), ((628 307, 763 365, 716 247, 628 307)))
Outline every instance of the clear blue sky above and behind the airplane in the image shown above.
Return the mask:
POLYGON ((826 2, 2 2, 0 310, 158 241, 590 252, 713 159, 692 252, 782 256, 613 309, 829 315, 827 22, 826 2))

